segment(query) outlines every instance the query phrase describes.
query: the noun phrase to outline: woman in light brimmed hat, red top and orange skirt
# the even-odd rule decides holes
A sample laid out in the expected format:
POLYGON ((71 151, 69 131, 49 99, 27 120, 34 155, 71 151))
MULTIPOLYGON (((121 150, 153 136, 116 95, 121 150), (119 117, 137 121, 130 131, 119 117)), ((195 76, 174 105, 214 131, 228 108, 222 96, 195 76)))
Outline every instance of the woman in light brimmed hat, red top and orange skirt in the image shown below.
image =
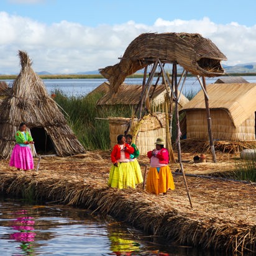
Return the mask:
POLYGON ((165 142, 162 138, 158 138, 155 144, 155 149, 147 152, 150 158, 150 170, 147 175, 146 190, 153 194, 166 194, 167 190, 175 189, 173 176, 168 166, 169 153, 164 147, 165 142))

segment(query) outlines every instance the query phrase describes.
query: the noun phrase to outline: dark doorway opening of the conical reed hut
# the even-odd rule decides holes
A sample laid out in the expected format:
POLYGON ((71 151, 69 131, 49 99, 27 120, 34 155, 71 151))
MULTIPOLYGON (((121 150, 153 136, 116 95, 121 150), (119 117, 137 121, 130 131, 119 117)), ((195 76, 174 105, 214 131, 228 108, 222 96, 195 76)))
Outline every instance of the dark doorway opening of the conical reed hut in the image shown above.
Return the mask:
POLYGON ((35 151, 39 155, 51 155, 56 154, 53 147, 52 140, 48 136, 47 132, 43 127, 34 127, 30 129, 32 138, 35 142, 35 151))

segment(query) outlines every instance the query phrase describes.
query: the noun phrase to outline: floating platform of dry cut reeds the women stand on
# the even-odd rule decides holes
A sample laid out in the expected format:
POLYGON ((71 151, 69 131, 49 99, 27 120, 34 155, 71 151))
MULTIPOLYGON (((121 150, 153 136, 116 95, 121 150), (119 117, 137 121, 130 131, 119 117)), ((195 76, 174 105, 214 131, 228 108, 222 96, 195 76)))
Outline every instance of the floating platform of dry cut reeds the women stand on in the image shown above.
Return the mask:
MULTIPOLYGON (((1 191, 110 214, 147 234, 219 250, 222 255, 256 252, 255 184, 187 176, 191 208, 182 175, 173 175, 176 188, 166 196, 147 193, 142 185, 127 190, 108 188, 109 153, 42 157, 39 171, 26 172, 16 171, 7 160, 1 160, 1 191)), ((217 153, 217 163, 191 163, 191 158, 193 155, 183 154, 186 173, 234 170, 234 159, 227 154, 217 153)), ((34 158, 35 166, 37 161, 34 158)), ((143 164, 149 160, 141 156, 139 162, 144 173, 143 164)), ((176 168, 178 164, 171 165, 171 170, 176 168)))

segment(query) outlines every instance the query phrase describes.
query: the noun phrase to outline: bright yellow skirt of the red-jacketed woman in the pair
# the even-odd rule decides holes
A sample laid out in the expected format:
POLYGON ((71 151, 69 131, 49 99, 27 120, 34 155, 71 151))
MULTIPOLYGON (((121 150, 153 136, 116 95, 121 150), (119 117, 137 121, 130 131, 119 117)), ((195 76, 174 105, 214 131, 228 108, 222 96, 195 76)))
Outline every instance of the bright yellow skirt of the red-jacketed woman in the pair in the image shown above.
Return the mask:
POLYGON ((112 165, 109 171, 109 181, 111 188, 135 188, 135 174, 130 162, 118 163, 118 167, 112 165))

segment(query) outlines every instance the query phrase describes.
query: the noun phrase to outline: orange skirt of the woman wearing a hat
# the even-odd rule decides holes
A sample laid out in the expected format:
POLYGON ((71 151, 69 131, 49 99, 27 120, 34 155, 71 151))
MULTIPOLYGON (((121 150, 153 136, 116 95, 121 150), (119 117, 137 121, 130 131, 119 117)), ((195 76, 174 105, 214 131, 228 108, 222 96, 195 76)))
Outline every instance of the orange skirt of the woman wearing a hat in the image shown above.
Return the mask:
POLYGON ((166 193, 167 190, 174 190, 173 175, 170 167, 161 167, 158 173, 157 168, 151 167, 147 175, 146 190, 153 194, 166 193))

